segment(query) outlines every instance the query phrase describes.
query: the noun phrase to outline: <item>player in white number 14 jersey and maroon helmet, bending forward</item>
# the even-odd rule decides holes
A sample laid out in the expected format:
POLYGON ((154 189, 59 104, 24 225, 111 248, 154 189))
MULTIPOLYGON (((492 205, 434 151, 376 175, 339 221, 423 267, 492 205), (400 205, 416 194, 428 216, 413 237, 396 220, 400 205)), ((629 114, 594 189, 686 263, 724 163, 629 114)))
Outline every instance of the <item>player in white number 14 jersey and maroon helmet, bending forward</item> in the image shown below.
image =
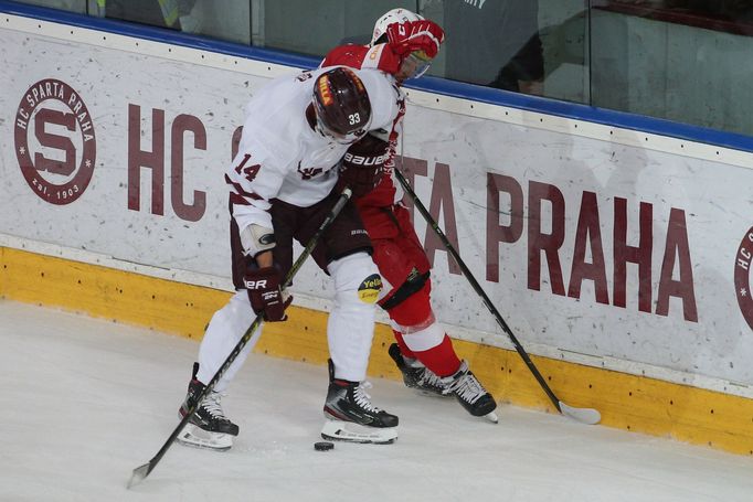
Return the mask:
MULTIPOLYGON (((316 70, 274 79, 246 107, 238 152, 225 171, 230 189, 232 275, 236 288, 214 313, 199 349, 182 416, 211 381, 257 314, 285 321, 291 297, 283 291, 293 266, 293 241, 306 245, 339 199, 338 165, 371 129, 390 128, 404 96, 374 70, 316 70)), ((351 153, 351 158, 352 158, 351 153)), ((363 391, 381 289, 371 241, 348 203, 311 257, 333 280, 327 323, 330 352, 325 400, 328 439, 388 444, 397 417, 373 406, 363 391)), ((261 328, 190 418, 179 440, 227 449, 238 426, 221 407, 222 393, 252 350, 261 328)))

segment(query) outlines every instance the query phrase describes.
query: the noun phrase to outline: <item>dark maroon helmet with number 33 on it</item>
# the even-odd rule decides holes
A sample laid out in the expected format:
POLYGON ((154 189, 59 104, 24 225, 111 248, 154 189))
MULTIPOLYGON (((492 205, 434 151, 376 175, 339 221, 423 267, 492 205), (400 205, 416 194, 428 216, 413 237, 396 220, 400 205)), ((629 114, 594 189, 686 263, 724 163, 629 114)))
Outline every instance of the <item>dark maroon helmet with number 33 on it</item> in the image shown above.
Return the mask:
POLYGON ((352 143, 369 131, 371 102, 352 70, 339 66, 319 75, 312 102, 317 129, 336 141, 352 143))

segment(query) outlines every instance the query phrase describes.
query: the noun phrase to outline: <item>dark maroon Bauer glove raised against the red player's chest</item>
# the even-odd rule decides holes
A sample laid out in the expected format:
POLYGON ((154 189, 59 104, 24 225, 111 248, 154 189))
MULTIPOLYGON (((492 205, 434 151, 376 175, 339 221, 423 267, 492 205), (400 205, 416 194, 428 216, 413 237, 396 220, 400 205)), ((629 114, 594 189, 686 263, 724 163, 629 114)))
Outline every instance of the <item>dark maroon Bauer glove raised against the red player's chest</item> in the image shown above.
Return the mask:
POLYGON ((340 164, 337 190, 350 186, 353 196, 364 195, 382 179, 384 163, 390 159, 390 143, 367 135, 350 146, 340 164))

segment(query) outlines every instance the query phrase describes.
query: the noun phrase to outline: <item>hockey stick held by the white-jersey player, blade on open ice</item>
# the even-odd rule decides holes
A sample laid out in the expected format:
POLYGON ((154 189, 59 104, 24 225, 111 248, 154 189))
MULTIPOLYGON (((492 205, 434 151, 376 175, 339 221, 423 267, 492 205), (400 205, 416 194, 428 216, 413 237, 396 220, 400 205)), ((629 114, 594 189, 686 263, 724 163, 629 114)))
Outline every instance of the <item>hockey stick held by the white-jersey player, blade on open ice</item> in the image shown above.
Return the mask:
MULTIPOLYGON (((324 235, 324 233, 329 228, 329 226, 332 224, 335 218, 337 217, 338 214, 342 211, 342 207, 348 203, 350 200, 350 196, 352 195, 352 192, 349 188, 346 188, 342 193, 340 193, 339 199, 330 210, 330 212, 327 214, 327 217, 325 217, 325 221, 321 222, 321 225, 319 225, 319 228, 317 229, 316 234, 308 241, 306 244, 306 247, 304 250, 300 253, 300 256, 298 256, 298 259, 296 260, 295 264, 293 264, 293 268, 290 268, 290 271, 288 271, 287 276, 285 277, 285 287, 287 288, 290 282, 293 281, 293 278, 295 277, 296 274, 298 274, 298 270, 300 267, 304 265, 304 261, 311 255, 314 252, 314 248, 316 247, 317 243, 324 235)), ((258 314, 256 316, 256 319, 254 319, 254 322, 251 323, 248 329, 246 330, 245 333, 243 333, 243 337, 241 337, 241 340, 235 344, 235 348, 231 351, 230 355, 227 355, 227 359, 225 359, 225 362, 222 363, 222 366, 220 366, 220 370, 212 376, 212 380, 209 381, 209 383, 204 386, 204 389, 199 393, 197 396, 195 404, 189 409, 189 412, 185 414, 185 416, 180 420, 176 429, 172 431, 170 437, 168 438, 167 441, 165 441, 165 445, 162 445, 162 448, 159 449, 157 455, 155 455, 151 460, 149 460, 147 463, 144 466, 139 466, 136 469, 134 469, 134 472, 130 476, 130 480, 128 481, 128 488, 131 488, 141 481, 144 481, 149 473, 155 470, 155 467, 159 463, 159 461, 162 459, 165 453, 168 451, 170 446, 172 446, 172 442, 174 439, 178 437, 180 431, 183 429, 185 424, 189 421, 191 416, 197 412, 199 408, 199 405, 201 404, 202 400, 204 400, 204 397, 214 388, 214 385, 218 383, 218 381, 222 377, 222 375, 227 371, 231 364, 233 364, 233 361, 235 361, 235 357, 241 353, 243 348, 248 343, 248 340, 251 340, 252 335, 256 331, 256 329, 259 327, 262 323, 263 316, 258 314)))

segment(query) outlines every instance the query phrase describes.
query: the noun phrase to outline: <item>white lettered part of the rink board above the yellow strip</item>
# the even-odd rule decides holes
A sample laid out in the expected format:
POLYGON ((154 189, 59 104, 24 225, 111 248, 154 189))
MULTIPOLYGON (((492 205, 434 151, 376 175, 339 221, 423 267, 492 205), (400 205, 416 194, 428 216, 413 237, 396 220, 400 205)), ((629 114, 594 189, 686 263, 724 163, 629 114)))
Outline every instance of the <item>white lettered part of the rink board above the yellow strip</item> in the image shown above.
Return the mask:
MULTIPOLYGON (((13 20, 14 25, 23 24, 13 20)), ((33 24, 35 28, 38 23, 33 24)), ((153 50, 160 45, 156 43, 145 42, 142 49, 135 49, 137 39, 125 36, 118 40, 130 41, 128 50, 117 50, 117 36, 104 42, 92 33, 96 32, 78 29, 75 39, 60 40, 29 30, 0 30, 0 64, 12 68, 0 75, 0 108, 3 117, 14 117, 0 121, 0 234, 127 263, 227 278, 223 170, 231 159, 233 132, 243 121, 245 103, 269 74, 278 72, 271 72, 265 63, 247 63, 243 72, 236 71, 226 58, 216 58, 221 61, 216 64, 195 64, 199 51, 180 47, 171 56, 163 49, 153 50), (156 56, 156 52, 163 55, 156 56), (53 87, 55 98, 35 102, 34 84, 53 79, 64 83, 64 90, 55 92, 53 87), (79 98, 72 97, 73 92, 79 98), (35 106, 25 99, 26 95, 35 106), (78 102, 86 106, 88 115, 79 117, 71 128, 64 117, 78 102), (34 114, 24 117, 32 108, 34 114), (165 120, 156 135, 155 110, 157 118, 163 114, 165 120), (140 127, 134 122, 129 128, 129 114, 132 117, 136 111, 140 113, 140 127), (87 120, 94 138, 85 140, 84 135, 91 135, 89 129, 83 130, 88 127, 87 120), (199 141, 194 147, 195 131, 199 141), (172 163, 180 160, 173 156, 173 136, 183 138, 181 193, 171 185, 177 179, 171 175, 172 163), (19 138, 25 138, 21 143, 25 141, 28 158, 42 156, 64 163, 66 149, 68 156, 75 152, 75 161, 66 164, 74 165, 75 171, 66 174, 65 167, 53 165, 52 171, 63 171, 55 174, 50 169, 34 168, 38 170, 30 175, 43 180, 40 186, 47 185, 47 192, 40 194, 40 189, 33 189, 34 183, 22 173, 19 159, 24 153, 19 151, 19 138), (129 209, 129 188, 134 191, 137 186, 129 182, 129 158, 132 163, 139 149, 152 151, 160 138, 165 141, 160 156, 165 186, 158 193, 163 197, 163 214, 152 214, 153 170, 147 168, 138 170, 140 204, 129 209), (137 148, 129 148, 129 142, 137 148), (77 199, 60 204, 62 194, 51 190, 75 184, 84 171, 84 157, 92 151, 96 160, 91 183, 79 183, 77 199), (205 197, 205 206, 191 210, 192 205, 201 205, 197 204, 201 197, 205 197), (197 215, 200 217, 193 221, 197 215)), ((541 122, 537 114, 519 110, 517 117, 522 118, 512 120, 506 118, 505 108, 486 105, 477 109, 496 119, 474 118, 450 111, 463 100, 425 106, 424 102, 429 100, 423 99, 422 93, 412 92, 412 96, 415 102, 406 118, 403 152, 412 159, 411 165, 426 169, 426 175, 415 179, 416 191, 427 206, 442 210, 435 212, 442 226, 450 238, 457 236, 466 265, 527 348, 545 345, 753 384, 753 333, 743 314, 753 319, 753 312, 749 297, 742 296, 739 302, 740 288, 735 286, 735 278, 746 285, 750 277, 744 267, 745 260, 750 261, 747 252, 739 249, 753 226, 753 170, 741 167, 753 165, 750 156, 722 150, 718 158, 735 161, 712 161, 707 154, 696 159, 671 152, 699 149, 688 142, 680 146, 679 141, 666 140, 662 145, 672 148, 647 149, 640 147, 647 137, 640 132, 603 128, 604 133, 584 135, 587 122, 560 119, 555 127, 541 122), (613 141, 611 133, 623 139, 613 141), (445 174, 450 177, 449 184, 443 182, 445 174), (506 177, 511 190, 518 186, 522 195, 522 205, 513 210, 521 224, 520 234, 511 242, 489 238, 489 222, 506 226, 512 221, 509 215, 488 217, 488 194, 496 192, 487 188, 487 180, 494 175, 498 180, 506 177), (533 201, 541 207, 541 225, 530 233, 535 220, 530 218, 529 197, 537 191, 543 199, 533 201), (616 223, 616 204, 625 207, 623 225, 616 223), (452 215, 449 222, 445 214, 452 215), (595 227, 583 223, 584 218, 592 225, 597 223, 601 238, 594 236, 595 227), (579 235, 579 221, 581 229, 588 232, 579 235), (645 264, 650 264, 644 265, 644 273, 650 268, 650 281, 647 278, 644 287, 650 293, 645 300, 648 311, 638 307, 637 265, 627 264, 624 287, 615 280, 616 227, 625 229, 627 246, 638 246, 640 228, 644 238, 650 237, 643 247, 645 264), (672 233, 668 246, 669 227, 672 233), (561 243, 554 245, 554 255, 548 260, 535 243, 550 234, 561 243), (579 242, 586 243, 580 246, 584 249, 580 258, 575 257, 579 242), (495 246, 499 257, 492 259, 495 246), (529 253, 541 257, 540 267, 529 270, 529 253), (583 265, 577 267, 584 275, 580 293, 570 291, 573 263, 583 265), (680 263, 686 268, 681 269, 680 263), (499 278, 487 280, 495 264, 499 278), (558 270, 562 290, 558 290, 558 270), (535 277, 540 278, 538 289, 531 286, 535 277), (596 282, 604 286, 600 292, 602 302, 596 299, 596 282), (616 296, 623 291, 624 307, 615 305, 616 296)), ((651 137, 651 141, 655 139, 651 137)), ((509 213, 510 200, 507 193, 499 195, 503 213, 509 213)), ((416 227, 422 238, 433 235, 426 233, 417 214, 416 227)), ((431 245, 429 250, 433 247, 437 245, 431 245)), ((747 247, 753 248, 753 242, 747 247)), ((433 297, 441 321, 463 330, 498 332, 467 281, 449 271, 447 254, 438 248, 432 253, 433 297)), ((328 288, 324 275, 308 264, 294 291, 327 298, 328 288)))

